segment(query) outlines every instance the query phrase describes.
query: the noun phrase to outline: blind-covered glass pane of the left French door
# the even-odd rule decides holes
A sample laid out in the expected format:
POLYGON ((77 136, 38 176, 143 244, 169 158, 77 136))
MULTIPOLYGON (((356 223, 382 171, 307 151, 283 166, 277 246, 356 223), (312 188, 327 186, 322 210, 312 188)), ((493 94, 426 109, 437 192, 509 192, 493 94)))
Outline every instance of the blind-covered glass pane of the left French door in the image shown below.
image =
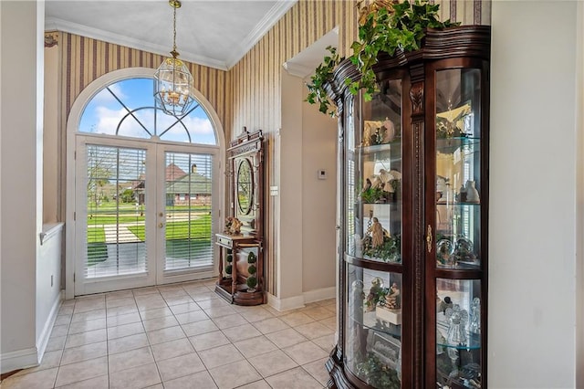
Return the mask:
POLYGON ((86 278, 143 273, 146 151, 89 144, 86 278))

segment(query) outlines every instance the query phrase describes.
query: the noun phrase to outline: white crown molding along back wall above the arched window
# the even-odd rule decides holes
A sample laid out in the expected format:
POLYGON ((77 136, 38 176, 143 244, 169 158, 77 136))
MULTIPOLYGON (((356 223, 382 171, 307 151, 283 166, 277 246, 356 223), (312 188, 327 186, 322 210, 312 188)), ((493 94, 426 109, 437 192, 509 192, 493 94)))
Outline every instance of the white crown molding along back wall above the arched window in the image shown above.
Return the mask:
MULTIPOLYGON (((169 56, 170 47, 165 46, 162 47, 161 45, 149 44, 139 39, 120 36, 118 34, 113 34, 109 31, 79 25, 77 23, 68 22, 57 17, 47 17, 47 19, 45 20, 45 29, 47 31, 53 30, 64 31, 70 34, 76 34, 81 37, 90 37, 93 39, 102 40, 104 42, 109 42, 120 46, 136 48, 139 50, 147 51, 149 53, 159 54, 161 56, 169 56)), ((244 54, 242 54, 242 57, 244 54)), ((217 68, 220 70, 229 69, 224 61, 200 56, 190 52, 181 51, 181 59, 187 62, 200 64, 209 68, 217 68)))

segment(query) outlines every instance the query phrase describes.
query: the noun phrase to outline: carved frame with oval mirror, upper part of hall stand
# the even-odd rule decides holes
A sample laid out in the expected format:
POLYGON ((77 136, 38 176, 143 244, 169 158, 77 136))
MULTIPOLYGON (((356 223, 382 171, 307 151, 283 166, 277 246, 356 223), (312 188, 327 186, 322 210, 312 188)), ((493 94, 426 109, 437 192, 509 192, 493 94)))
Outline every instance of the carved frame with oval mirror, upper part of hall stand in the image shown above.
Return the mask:
POLYGON ((262 238, 264 233, 264 136, 244 133, 227 149, 232 216, 242 222, 241 232, 262 238))

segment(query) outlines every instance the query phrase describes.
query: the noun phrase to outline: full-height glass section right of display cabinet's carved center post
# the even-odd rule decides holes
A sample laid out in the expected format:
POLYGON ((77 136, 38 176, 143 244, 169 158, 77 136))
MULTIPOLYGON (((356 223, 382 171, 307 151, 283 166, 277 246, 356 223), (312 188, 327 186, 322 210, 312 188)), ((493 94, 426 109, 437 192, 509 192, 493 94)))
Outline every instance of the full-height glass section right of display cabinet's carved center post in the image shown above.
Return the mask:
POLYGON ((480 388, 481 70, 437 70, 434 100, 436 385, 480 388))

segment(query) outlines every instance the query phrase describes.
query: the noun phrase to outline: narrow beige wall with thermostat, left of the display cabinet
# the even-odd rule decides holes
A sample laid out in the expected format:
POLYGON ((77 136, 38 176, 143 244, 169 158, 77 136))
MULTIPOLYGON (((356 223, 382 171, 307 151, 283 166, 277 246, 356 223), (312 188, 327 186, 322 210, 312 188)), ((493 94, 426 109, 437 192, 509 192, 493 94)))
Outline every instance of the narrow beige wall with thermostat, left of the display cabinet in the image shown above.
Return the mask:
POLYGON ((331 298, 337 281, 337 120, 308 102, 302 104, 302 198, 302 289, 315 300, 331 298), (320 169, 325 180, 318 179, 320 169))

